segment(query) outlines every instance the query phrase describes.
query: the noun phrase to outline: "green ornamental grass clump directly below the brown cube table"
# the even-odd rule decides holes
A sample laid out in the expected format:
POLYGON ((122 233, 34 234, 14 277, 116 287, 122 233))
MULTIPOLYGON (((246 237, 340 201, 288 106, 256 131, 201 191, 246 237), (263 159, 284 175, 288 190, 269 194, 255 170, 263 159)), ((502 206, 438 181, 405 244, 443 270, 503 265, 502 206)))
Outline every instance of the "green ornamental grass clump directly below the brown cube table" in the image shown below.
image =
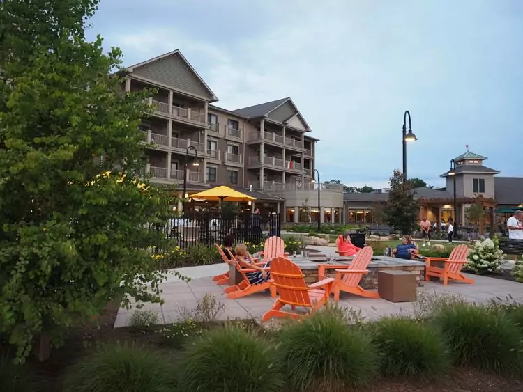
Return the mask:
POLYGON ((374 344, 387 376, 438 377, 448 370, 448 352, 439 334, 407 318, 384 318, 372 324, 374 344))

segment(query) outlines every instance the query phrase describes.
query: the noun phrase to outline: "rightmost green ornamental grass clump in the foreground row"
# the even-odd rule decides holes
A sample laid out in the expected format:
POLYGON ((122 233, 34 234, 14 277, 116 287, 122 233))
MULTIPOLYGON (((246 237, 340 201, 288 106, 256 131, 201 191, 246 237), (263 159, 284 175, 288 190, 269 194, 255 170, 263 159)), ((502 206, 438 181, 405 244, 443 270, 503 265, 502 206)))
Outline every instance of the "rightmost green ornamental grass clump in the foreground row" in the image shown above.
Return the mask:
POLYGON ((493 373, 522 369, 520 330, 508 315, 487 306, 455 304, 441 308, 434 321, 458 366, 493 373))

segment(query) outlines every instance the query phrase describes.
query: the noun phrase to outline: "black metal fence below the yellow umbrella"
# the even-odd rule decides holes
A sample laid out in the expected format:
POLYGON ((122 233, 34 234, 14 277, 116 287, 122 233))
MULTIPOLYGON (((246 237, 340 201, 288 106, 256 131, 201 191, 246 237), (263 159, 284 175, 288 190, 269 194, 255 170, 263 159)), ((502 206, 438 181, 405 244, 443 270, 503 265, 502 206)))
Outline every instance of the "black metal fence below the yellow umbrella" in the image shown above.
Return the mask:
POLYGON ((221 244, 226 235, 234 242, 264 242, 272 235, 280 236, 280 214, 239 212, 237 214, 214 211, 190 212, 173 217, 165 226, 155 225, 181 248, 192 244, 221 244))

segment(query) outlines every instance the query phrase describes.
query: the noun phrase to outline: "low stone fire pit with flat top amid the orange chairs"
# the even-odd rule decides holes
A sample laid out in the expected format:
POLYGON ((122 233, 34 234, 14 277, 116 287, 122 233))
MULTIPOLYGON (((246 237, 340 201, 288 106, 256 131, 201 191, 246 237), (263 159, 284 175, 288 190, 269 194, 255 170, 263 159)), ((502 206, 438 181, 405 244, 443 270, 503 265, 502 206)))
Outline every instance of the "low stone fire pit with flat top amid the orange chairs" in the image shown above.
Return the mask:
MULTIPOLYGON (((347 259, 347 258, 345 258, 347 259)), ((296 263, 303 272, 305 276, 306 283, 315 283, 318 281, 318 266, 329 264, 326 261, 311 261, 305 260, 304 258, 290 258, 293 262, 296 263)), ((335 261, 336 265, 345 265, 350 264, 350 261, 342 260, 335 261)), ((333 263, 331 263, 333 264, 333 263)), ((360 285, 365 289, 377 289, 378 288, 378 272, 379 271, 407 271, 418 274, 416 276, 416 281, 418 286, 423 286, 425 281, 425 262, 423 261, 414 261, 414 260, 403 260, 400 258, 392 258, 387 256, 374 256, 370 262, 369 267, 367 268, 370 273, 363 275, 360 285)), ((334 269, 331 271, 327 270, 328 277, 334 277, 334 269)))

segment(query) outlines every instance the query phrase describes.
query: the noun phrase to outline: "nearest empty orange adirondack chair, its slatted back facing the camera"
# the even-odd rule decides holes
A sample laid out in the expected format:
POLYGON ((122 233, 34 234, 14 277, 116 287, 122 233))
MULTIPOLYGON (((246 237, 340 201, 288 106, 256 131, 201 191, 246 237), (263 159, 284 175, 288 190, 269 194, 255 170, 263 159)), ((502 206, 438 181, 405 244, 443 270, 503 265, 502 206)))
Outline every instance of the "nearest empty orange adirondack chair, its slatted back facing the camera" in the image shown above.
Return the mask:
POLYGON ((298 313, 282 311, 285 305, 290 305, 292 309, 303 306, 310 308, 310 312, 316 311, 328 303, 334 282, 333 278, 327 278, 308 285, 305 283, 300 267, 285 257, 278 257, 271 261, 271 278, 279 297, 273 308, 261 317, 261 321, 268 321, 272 317, 296 319, 303 317, 298 313))

